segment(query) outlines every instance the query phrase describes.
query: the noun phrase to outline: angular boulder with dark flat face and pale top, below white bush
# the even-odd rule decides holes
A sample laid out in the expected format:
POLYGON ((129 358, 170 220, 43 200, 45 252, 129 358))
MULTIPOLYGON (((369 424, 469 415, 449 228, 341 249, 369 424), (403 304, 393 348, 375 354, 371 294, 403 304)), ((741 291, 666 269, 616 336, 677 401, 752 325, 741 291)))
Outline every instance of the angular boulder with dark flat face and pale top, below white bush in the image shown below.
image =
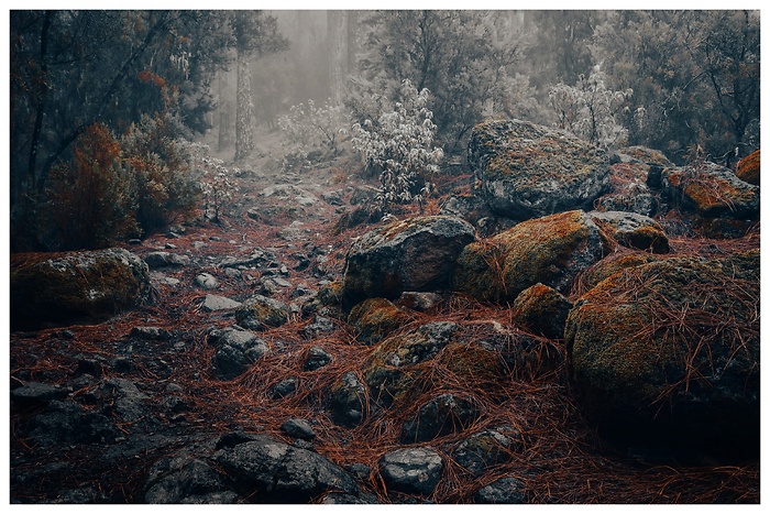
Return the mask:
POLYGON ((450 216, 396 221, 359 238, 348 251, 344 304, 397 298, 404 291, 443 291, 454 262, 475 239, 473 227, 450 216))

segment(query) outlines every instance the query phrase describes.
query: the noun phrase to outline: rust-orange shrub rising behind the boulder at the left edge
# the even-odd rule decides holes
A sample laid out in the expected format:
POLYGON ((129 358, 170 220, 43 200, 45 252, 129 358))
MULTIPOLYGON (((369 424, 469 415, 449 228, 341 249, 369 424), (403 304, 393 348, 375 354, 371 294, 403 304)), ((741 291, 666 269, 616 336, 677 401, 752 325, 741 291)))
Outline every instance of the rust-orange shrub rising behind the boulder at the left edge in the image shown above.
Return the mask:
POLYGON ((132 174, 122 165, 120 143, 102 124, 78 138, 72 163, 52 169, 47 193, 52 237, 45 245, 52 250, 105 248, 139 231, 132 174))

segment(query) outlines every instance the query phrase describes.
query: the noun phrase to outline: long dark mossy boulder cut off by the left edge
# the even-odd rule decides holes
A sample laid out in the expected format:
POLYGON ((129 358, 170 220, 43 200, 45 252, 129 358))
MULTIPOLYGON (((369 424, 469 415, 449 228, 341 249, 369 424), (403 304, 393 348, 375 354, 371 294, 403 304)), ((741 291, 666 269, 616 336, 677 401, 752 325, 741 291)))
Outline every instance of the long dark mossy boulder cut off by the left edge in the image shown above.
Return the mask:
POLYGON ((11 256, 11 329, 98 322, 148 297, 147 264, 118 248, 11 256))

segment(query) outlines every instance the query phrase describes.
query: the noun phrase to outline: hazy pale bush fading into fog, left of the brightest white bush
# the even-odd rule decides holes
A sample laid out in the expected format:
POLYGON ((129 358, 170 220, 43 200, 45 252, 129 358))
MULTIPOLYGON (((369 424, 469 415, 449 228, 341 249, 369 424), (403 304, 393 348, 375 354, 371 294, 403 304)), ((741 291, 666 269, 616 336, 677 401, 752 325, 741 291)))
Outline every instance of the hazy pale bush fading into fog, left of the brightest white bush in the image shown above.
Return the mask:
POLYGON ((289 108, 278 118, 278 128, 284 133, 286 152, 282 163, 285 172, 299 172, 314 162, 334 157, 343 127, 348 122, 342 106, 326 101, 316 107, 312 100, 289 108))

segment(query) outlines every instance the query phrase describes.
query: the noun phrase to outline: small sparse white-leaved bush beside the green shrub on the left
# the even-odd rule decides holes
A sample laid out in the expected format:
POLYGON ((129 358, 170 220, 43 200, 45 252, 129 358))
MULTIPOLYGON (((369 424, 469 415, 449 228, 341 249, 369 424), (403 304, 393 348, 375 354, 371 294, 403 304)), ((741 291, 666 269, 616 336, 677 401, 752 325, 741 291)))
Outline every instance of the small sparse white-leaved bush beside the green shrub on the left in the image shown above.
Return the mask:
POLYGON ((209 147, 204 144, 193 144, 191 155, 194 171, 200 177, 200 193, 204 200, 204 216, 219 221, 222 214, 238 192, 238 185, 231 174, 238 175, 239 169, 229 169, 224 161, 209 155, 209 147))

